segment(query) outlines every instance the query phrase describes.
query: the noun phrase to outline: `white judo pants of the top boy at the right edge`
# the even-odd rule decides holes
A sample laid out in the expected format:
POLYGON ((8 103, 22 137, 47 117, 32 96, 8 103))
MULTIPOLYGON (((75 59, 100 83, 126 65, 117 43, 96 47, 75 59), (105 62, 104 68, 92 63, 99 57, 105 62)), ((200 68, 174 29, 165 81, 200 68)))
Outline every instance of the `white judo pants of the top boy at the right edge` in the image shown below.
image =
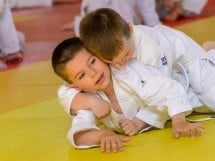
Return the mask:
POLYGON ((188 77, 199 100, 215 112, 215 50, 197 61, 188 71, 188 77))

